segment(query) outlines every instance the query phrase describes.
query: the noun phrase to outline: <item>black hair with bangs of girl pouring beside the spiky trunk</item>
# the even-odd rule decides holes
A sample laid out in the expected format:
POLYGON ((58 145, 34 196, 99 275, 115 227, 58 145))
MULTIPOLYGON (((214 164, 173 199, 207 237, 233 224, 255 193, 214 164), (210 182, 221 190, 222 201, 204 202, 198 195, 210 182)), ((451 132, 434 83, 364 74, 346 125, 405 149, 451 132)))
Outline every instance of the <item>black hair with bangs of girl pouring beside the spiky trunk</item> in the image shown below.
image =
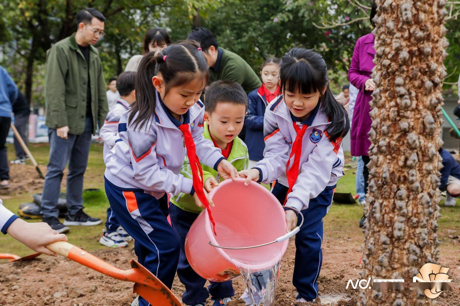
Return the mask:
POLYGON ((328 67, 321 54, 304 48, 289 50, 281 59, 280 88, 283 95, 286 90, 305 95, 319 92, 321 109, 331 122, 327 129, 329 140, 334 141, 348 133, 348 114, 329 88, 328 67), (321 94, 324 88, 326 91, 321 94))

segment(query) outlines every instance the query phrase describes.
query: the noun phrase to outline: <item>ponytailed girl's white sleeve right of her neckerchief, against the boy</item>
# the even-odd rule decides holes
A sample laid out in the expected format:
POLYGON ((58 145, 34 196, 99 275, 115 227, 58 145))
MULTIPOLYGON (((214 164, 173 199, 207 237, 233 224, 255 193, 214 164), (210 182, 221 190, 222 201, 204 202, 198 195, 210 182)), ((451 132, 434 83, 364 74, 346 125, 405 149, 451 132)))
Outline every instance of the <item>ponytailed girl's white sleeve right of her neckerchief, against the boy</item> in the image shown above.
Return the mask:
POLYGON ((196 124, 195 129, 191 132, 196 147, 196 156, 198 156, 202 164, 212 167, 217 171, 217 165, 225 158, 222 156, 222 151, 216 148, 211 140, 203 137, 203 117, 204 114, 201 114, 197 118, 196 122, 198 124, 196 124))

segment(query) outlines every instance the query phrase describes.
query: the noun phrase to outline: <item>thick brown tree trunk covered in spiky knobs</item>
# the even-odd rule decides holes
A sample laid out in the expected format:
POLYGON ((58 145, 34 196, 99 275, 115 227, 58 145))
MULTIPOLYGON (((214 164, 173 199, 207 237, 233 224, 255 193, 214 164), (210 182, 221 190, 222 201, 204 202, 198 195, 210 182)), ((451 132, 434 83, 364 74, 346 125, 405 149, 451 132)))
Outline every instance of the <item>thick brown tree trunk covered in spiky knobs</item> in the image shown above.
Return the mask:
MULTIPOLYGON (((437 150, 448 45, 444 5, 444 0, 377 0, 365 279, 411 282, 438 257, 437 150)), ((365 289, 360 304, 419 306, 433 300, 409 289, 365 289)))

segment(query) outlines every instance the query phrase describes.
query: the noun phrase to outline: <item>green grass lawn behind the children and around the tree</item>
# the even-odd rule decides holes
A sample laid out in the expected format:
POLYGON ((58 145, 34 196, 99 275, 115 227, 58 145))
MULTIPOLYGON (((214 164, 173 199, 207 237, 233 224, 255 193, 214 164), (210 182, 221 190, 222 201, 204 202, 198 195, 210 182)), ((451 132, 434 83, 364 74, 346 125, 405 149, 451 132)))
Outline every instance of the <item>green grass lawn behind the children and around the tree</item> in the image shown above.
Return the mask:
MULTIPOLYGON (((9 160, 14 158, 14 149, 12 145, 7 145, 9 160)), ((48 162, 49 146, 45 144, 29 145, 29 149, 34 155, 36 161, 40 165, 46 165, 48 162)), ((85 192, 83 194, 83 201, 85 211, 92 217, 101 218, 104 222, 106 219, 106 209, 109 206, 109 202, 104 192, 104 161, 102 158, 103 146, 99 144, 92 144, 90 149, 90 156, 88 160, 88 167, 85 173, 84 188, 96 188, 100 189, 97 192, 85 192)), ((348 154, 349 156, 349 154, 348 154)), ((30 162, 28 162, 30 163, 30 162)), ((347 167, 345 169, 345 176, 340 178, 336 192, 351 192, 355 194, 355 174, 356 168, 347 167)), ((40 186, 41 187, 41 186, 40 186)), ((65 192, 65 190, 61 190, 65 192)), ((21 203, 32 201, 32 193, 21 194, 21 195, 7 195, 4 197, 4 205, 13 212, 17 212, 17 208, 21 203)), ((1 195, 0 195, 1 198, 1 195)), ((458 216, 460 212, 459 201, 457 206, 446 207, 441 202, 441 214, 442 217, 438 220, 439 231, 438 234, 443 242, 447 242, 441 245, 441 250, 449 248, 451 250, 456 247, 459 251, 459 247, 452 243, 449 243, 449 235, 460 234, 458 228, 458 216)), ((343 205, 334 203, 328 212, 328 216, 324 219, 324 231, 330 238, 346 238, 356 233, 361 234, 361 229, 358 227, 358 221, 362 216, 363 208, 357 204, 343 205)), ((38 222, 40 220, 29 220, 29 222, 38 222)), ((61 220, 63 221, 63 220, 61 220)), ((78 245, 81 248, 93 251, 98 249, 106 248, 100 245, 98 240, 102 234, 104 223, 98 226, 92 227, 71 227, 70 232, 67 234, 69 242, 78 245)), ((447 249, 446 249, 447 250, 447 249)), ((0 239, 0 252, 1 253, 13 253, 19 256, 24 256, 32 253, 31 250, 21 245, 10 236, 6 235, 0 239)))

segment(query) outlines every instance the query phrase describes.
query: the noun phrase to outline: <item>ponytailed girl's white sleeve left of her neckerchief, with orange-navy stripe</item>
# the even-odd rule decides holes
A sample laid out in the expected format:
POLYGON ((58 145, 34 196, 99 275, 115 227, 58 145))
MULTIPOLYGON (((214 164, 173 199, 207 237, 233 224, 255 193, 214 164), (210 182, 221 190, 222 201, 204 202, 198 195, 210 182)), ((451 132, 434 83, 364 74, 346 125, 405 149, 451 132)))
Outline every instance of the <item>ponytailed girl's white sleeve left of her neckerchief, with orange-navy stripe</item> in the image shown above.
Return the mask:
POLYGON ((134 178, 147 189, 164 191, 178 195, 190 194, 192 180, 182 174, 175 174, 167 168, 161 168, 156 156, 156 134, 143 129, 127 129, 119 132, 120 138, 129 146, 134 178))

